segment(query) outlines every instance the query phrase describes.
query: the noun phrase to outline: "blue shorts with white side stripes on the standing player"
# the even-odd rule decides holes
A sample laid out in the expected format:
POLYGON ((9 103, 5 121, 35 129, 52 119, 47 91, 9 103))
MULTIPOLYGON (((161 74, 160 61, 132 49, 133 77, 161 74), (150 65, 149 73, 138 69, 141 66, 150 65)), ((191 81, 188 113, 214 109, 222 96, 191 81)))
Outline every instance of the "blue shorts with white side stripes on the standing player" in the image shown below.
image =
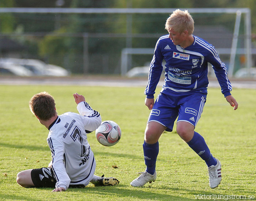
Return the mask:
POLYGON ((148 122, 156 121, 167 127, 166 131, 172 132, 174 121, 186 121, 196 127, 204 104, 206 102, 205 93, 160 93, 155 101, 153 109, 148 117, 148 122))

